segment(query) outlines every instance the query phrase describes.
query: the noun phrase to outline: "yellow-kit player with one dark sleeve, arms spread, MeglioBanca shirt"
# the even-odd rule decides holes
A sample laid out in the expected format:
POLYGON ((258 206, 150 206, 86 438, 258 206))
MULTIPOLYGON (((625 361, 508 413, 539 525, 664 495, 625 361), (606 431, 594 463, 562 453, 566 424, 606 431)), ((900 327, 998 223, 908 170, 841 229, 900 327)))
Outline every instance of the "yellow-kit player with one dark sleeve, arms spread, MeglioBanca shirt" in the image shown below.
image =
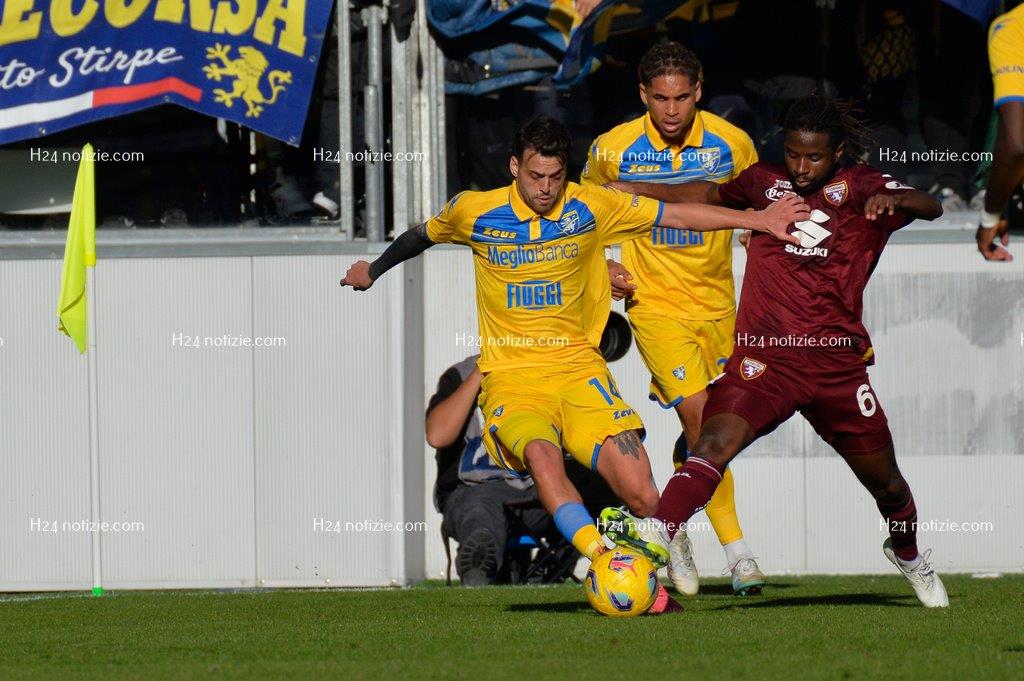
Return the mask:
MULTIPOLYGON (((786 226, 808 213, 798 200, 742 212, 581 186, 566 181, 568 150, 563 125, 529 121, 513 143, 510 185, 457 195, 372 264, 355 262, 341 285, 369 289, 434 244, 472 249, 487 453, 532 476, 556 526, 593 559, 604 543, 565 474, 563 451, 604 477, 637 516, 649 516, 658 503, 641 443, 643 423, 620 395, 593 329, 588 288, 604 247, 649 236, 655 225, 683 224, 698 231, 742 226, 796 243, 786 226)), ((607 290, 606 279, 601 285, 607 290)), ((664 565, 668 551, 657 546, 651 557, 664 565)), ((672 603, 662 589, 654 611, 672 603)))

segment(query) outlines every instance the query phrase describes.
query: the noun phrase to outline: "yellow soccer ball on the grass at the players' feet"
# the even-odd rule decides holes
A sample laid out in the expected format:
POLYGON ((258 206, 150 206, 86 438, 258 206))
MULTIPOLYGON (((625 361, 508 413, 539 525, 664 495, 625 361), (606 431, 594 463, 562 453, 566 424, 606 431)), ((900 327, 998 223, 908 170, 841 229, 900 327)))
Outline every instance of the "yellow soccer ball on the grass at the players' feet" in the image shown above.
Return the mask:
POLYGON ((635 618, 654 603, 657 568, 635 551, 605 551, 590 564, 584 591, 591 607, 601 614, 635 618))

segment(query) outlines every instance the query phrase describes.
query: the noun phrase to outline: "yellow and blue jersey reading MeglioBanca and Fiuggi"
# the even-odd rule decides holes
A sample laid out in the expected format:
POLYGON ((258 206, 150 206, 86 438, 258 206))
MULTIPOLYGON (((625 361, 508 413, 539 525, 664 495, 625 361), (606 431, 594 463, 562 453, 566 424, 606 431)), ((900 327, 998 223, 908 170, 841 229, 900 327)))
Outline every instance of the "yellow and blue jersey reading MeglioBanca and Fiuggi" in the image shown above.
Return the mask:
POLYGON ((595 258, 606 246, 649 235, 660 215, 658 201, 574 182, 546 215, 526 205, 514 182, 453 198, 427 221, 427 236, 473 249, 480 371, 601 360, 586 295, 595 258))

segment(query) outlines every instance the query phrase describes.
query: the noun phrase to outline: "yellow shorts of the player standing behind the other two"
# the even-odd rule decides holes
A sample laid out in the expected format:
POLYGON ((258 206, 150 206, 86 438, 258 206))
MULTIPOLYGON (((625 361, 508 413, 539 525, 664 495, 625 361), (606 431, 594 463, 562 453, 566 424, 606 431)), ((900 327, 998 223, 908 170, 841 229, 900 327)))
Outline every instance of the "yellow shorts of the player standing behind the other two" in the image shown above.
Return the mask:
POLYGON ((630 314, 637 349, 650 371, 650 398, 673 409, 708 387, 732 354, 736 315, 688 321, 630 314))

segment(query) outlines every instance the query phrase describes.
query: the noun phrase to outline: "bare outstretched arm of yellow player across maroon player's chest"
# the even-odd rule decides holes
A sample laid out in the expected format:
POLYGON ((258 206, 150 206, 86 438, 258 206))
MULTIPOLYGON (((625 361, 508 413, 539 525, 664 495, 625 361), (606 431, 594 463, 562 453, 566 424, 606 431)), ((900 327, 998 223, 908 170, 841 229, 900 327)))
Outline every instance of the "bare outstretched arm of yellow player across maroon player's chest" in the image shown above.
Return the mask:
POLYGON ((797 195, 787 194, 760 211, 737 211, 700 204, 665 204, 658 224, 694 231, 736 228, 767 231, 779 241, 799 244, 800 240, 788 233, 787 229, 794 222, 806 220, 809 216, 810 208, 804 200, 797 195))

